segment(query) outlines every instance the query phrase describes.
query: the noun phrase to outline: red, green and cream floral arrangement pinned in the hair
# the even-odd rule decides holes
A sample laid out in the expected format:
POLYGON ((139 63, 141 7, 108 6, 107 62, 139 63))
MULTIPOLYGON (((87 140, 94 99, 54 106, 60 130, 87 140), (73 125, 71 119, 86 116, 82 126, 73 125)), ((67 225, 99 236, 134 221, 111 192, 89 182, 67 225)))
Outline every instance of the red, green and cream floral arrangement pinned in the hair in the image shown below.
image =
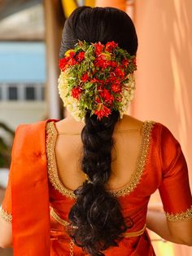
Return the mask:
POLYGON ((112 110, 119 111, 121 118, 127 112, 135 90, 136 59, 116 42, 79 41, 59 60, 59 68, 59 95, 77 121, 87 110, 98 120, 112 110))

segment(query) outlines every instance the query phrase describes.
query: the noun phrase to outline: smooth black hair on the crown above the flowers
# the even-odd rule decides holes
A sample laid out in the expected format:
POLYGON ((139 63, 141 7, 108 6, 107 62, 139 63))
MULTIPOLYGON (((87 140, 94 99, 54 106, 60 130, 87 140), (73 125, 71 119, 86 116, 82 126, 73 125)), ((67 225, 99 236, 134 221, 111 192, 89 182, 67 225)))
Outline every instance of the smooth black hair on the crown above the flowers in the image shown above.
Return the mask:
POLYGON ((130 55, 137 52, 137 33, 133 21, 124 11, 113 7, 78 7, 66 20, 59 57, 73 49, 78 40, 115 41, 130 55))

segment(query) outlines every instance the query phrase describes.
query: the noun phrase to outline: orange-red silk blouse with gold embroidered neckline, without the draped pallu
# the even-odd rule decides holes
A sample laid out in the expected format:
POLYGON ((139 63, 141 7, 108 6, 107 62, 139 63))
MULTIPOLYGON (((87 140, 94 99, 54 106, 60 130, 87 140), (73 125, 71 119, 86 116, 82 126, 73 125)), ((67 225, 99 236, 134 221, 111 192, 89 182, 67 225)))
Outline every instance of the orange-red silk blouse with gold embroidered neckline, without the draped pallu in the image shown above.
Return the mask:
MULTIPOLYGON (((76 197, 59 179, 55 158, 57 136, 55 121, 47 121, 45 144, 51 210, 50 255, 86 255, 81 248, 72 244, 65 232, 68 213, 76 197)), ((124 218, 129 217, 133 220, 133 227, 124 234, 119 246, 107 249, 105 255, 155 255, 145 225, 147 204, 156 189, 159 189, 164 212, 170 221, 192 218, 188 171, 180 144, 165 126, 145 121, 136 169, 124 188, 110 191, 120 201, 124 218)), ((14 219, 11 205, 9 179, 1 210, 2 217, 9 222, 11 218, 14 219)))

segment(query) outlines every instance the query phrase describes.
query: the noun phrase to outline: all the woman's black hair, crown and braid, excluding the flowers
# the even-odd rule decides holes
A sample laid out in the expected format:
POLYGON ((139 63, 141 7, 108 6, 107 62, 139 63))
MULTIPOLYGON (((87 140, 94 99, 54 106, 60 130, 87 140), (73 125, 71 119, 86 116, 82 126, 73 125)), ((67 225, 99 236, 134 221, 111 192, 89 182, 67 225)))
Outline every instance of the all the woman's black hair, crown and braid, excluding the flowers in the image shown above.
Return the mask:
MULTIPOLYGON (((113 7, 78 7, 73 11, 64 25, 60 58, 78 40, 103 44, 115 41, 129 54, 137 52, 133 21, 124 11, 113 7)), ((72 225, 68 232, 76 245, 94 256, 104 255, 102 251, 110 246, 118 246, 130 227, 125 223, 118 200, 106 189, 111 175, 112 135, 119 118, 120 113, 112 111, 109 117, 98 120, 87 111, 81 132, 81 169, 89 181, 75 190, 76 203, 69 213, 72 225)))

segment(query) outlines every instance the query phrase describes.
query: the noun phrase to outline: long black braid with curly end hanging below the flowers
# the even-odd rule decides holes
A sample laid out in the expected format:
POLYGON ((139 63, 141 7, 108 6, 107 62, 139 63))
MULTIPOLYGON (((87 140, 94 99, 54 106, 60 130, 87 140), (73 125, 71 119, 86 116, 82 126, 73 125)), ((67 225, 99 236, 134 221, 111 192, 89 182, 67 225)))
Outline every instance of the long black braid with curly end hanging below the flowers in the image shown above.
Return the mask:
POLYGON ((69 213, 71 236, 76 245, 91 255, 104 255, 101 251, 117 245, 126 230, 119 202, 105 189, 111 175, 112 134, 119 113, 98 121, 96 116, 85 117, 81 138, 84 145, 82 170, 89 176, 77 188, 77 200, 69 213))

